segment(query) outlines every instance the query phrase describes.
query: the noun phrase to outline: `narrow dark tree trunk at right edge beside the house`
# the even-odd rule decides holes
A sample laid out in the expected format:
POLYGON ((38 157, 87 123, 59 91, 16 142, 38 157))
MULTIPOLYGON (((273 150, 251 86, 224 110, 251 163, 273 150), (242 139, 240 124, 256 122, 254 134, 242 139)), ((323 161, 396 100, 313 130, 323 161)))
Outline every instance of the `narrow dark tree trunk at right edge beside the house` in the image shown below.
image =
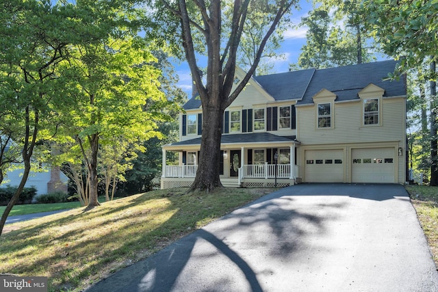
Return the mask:
MULTIPOLYGON (((430 63, 430 71, 435 73, 435 61, 430 63)), ((430 81, 430 185, 438 185, 438 144, 437 144, 437 83, 430 81)))

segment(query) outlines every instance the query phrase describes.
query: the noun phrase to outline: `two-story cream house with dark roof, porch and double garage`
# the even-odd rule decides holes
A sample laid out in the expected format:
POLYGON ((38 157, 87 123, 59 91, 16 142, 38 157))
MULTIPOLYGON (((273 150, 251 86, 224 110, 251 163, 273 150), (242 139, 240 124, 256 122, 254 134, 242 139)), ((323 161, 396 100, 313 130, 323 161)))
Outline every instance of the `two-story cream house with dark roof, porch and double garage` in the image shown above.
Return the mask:
MULTIPOLYGON (((404 183, 406 80, 395 61, 308 69, 250 79, 224 112, 222 185, 404 183)), ((235 83, 244 77, 237 68, 235 83)), ((179 139, 163 147, 162 188, 190 186, 202 134, 201 101, 180 114, 179 139), (167 151, 179 165, 167 165, 167 151)))

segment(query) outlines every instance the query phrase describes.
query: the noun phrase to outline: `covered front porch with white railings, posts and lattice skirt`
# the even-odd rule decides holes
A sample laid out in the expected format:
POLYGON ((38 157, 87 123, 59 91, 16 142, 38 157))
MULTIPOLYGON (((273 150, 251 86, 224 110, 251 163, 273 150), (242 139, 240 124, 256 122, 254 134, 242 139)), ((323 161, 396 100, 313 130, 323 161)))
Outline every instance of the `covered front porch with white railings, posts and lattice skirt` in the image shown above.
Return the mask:
MULTIPOLYGON (((201 138, 163 147, 161 187, 190 187, 198 169, 201 138), (179 152, 179 165, 167 164, 167 152, 179 152)), ((270 133, 222 135, 220 181, 226 187, 285 187, 296 183, 294 137, 270 133)))

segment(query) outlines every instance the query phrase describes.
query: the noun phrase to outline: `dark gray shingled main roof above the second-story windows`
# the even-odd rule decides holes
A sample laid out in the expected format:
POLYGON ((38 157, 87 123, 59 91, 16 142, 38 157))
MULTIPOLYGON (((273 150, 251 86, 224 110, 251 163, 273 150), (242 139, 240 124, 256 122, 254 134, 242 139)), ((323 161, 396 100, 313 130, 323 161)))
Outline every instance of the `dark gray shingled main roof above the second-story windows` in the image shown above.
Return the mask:
MULTIPOLYGON (((255 77, 276 101, 296 99, 297 104, 313 103, 312 97, 323 88, 337 94, 336 101, 358 99, 357 93, 373 83, 385 89, 385 96, 406 95, 406 85, 400 81, 383 81, 389 72, 394 72, 394 60, 342 66, 327 69, 307 69, 255 77)), ((185 103, 184 109, 201 106, 198 97, 185 103)))

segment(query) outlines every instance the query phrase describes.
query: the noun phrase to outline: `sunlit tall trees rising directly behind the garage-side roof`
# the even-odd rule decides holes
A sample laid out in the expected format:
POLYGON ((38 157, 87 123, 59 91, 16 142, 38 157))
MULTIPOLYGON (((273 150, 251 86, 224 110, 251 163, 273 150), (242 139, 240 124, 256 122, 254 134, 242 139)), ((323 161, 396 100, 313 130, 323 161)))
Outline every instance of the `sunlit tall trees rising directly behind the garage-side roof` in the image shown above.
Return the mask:
MULTIPOLYGON (((300 25, 309 27, 298 58, 300 68, 330 68, 371 62, 368 32, 363 28, 360 1, 323 0, 300 25), (366 46, 365 46, 366 44, 366 46)), ((292 69, 294 65, 290 66, 292 69)))

